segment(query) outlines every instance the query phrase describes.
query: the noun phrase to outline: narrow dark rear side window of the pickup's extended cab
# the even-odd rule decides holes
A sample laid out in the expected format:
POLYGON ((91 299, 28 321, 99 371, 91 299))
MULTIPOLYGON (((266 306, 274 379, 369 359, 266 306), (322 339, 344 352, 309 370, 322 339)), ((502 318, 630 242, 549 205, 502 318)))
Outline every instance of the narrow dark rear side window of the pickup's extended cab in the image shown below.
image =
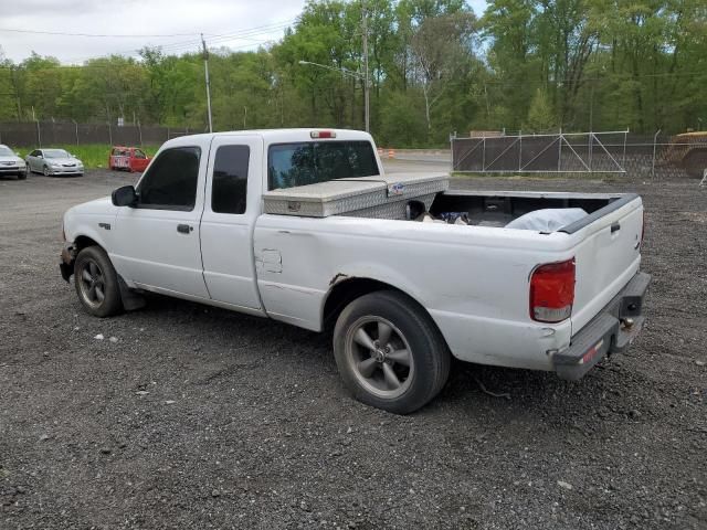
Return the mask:
POLYGON ((211 184, 213 212, 245 213, 250 156, 247 146, 221 146, 217 150, 211 184))

